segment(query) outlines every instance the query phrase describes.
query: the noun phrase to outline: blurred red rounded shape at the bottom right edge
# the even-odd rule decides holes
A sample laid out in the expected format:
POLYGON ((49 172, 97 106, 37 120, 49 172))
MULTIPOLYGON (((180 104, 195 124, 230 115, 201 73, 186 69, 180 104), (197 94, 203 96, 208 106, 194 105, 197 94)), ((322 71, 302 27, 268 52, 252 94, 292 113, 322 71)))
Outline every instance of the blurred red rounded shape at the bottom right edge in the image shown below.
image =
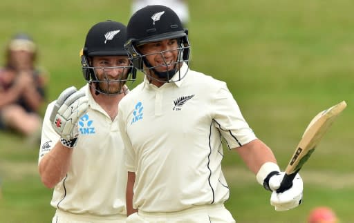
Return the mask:
POLYGON ((310 211, 308 223, 339 223, 339 220, 332 209, 319 206, 310 211))

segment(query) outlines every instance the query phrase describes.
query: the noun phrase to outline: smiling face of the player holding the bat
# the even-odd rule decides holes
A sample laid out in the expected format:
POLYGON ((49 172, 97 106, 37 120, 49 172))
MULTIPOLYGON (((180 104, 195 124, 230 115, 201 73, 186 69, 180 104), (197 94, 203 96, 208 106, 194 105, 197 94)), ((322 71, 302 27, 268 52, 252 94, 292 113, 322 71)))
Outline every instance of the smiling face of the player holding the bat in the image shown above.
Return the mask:
POLYGON ((147 55, 146 59, 149 61, 151 67, 158 72, 166 72, 172 70, 176 66, 178 59, 178 40, 165 39, 146 43, 139 47, 142 55, 147 55))

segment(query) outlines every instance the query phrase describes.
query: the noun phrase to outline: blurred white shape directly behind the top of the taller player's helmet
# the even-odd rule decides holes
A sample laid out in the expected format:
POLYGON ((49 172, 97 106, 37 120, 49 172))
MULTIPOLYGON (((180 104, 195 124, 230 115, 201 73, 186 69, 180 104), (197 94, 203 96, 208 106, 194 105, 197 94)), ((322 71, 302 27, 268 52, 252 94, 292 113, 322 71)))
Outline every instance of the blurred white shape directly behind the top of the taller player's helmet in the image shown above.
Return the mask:
POLYGON ((171 8, 180 18, 183 27, 187 27, 187 23, 189 21, 187 0, 133 0, 131 4, 131 14, 138 11, 140 8, 151 5, 162 5, 171 8))

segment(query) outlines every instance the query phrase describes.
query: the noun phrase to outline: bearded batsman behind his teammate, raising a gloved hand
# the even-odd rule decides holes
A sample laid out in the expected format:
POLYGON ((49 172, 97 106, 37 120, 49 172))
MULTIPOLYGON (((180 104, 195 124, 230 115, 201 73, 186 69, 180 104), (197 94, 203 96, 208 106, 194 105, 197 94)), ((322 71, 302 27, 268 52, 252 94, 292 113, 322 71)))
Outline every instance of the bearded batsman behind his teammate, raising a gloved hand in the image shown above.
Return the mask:
POLYGON ((127 170, 117 118, 127 83, 135 79, 126 37, 122 23, 95 24, 81 55, 88 84, 67 88, 46 110, 39 173, 54 188, 53 222, 126 221, 127 170))

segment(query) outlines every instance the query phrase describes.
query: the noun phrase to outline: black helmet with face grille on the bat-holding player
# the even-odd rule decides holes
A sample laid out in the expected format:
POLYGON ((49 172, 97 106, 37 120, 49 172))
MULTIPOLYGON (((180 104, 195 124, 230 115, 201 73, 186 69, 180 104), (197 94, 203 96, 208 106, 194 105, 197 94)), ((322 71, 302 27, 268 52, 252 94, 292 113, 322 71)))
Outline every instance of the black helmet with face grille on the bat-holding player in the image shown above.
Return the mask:
MULTIPOLYGON (((125 43, 124 47, 129 53, 134 68, 145 72, 145 75, 147 75, 146 70, 153 70, 160 78, 158 81, 162 79, 164 80, 162 82, 170 82, 170 79, 176 74, 176 71, 179 71, 182 63, 185 62, 188 64, 190 48, 188 31, 186 28, 183 28, 176 12, 167 6, 146 6, 134 13, 127 25, 127 39, 128 41, 125 43), (167 72, 158 72, 155 69, 157 66, 151 66, 151 64, 149 64, 146 59, 147 55, 143 55, 138 46, 165 39, 178 40, 178 48, 174 49, 178 50, 178 59, 169 64, 174 64, 173 70, 167 69, 167 72), (144 68, 144 64, 146 68, 144 68)), ((163 53, 167 51, 157 53, 162 55, 162 58, 165 60, 163 53)), ((165 63, 167 63, 166 60, 165 63)), ((135 70, 133 72, 135 72, 135 70)), ((180 75, 178 80, 175 81, 179 81, 183 77, 185 77, 185 74, 180 75)))

